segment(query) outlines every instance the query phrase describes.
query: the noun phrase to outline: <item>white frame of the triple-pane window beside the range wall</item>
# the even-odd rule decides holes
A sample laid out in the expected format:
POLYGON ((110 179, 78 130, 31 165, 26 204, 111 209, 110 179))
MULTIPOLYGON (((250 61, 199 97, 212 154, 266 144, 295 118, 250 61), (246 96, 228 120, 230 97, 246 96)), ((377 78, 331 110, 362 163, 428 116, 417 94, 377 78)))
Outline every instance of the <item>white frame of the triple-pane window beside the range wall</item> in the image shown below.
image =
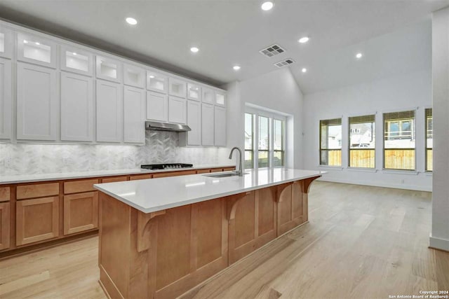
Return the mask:
MULTIPOLYGON (((287 118, 288 116, 282 115, 281 113, 274 113, 272 111, 264 111, 263 109, 257 109, 252 106, 245 107, 245 114, 253 114, 253 168, 251 169, 259 169, 259 168, 282 168, 286 167, 287 161, 287 151, 286 151, 286 136, 287 132, 287 118), (268 146, 268 166, 267 167, 259 167, 259 117, 265 117, 269 119, 269 146, 268 146), (283 151, 283 165, 273 166, 274 159, 274 120, 281 120, 283 122, 283 136, 282 136, 282 151, 283 151)), ((250 168, 246 168, 250 169, 250 168)))

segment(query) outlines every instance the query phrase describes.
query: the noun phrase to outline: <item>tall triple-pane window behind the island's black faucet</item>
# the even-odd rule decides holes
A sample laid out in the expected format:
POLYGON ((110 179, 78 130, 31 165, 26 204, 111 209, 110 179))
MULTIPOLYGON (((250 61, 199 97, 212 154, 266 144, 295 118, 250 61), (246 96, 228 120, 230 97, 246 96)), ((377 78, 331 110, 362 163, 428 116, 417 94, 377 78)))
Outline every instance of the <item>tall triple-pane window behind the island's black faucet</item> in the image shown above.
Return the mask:
POLYGON ((284 165, 285 122, 283 116, 265 111, 245 113, 246 169, 284 165), (257 157, 257 162, 254 157, 257 157))

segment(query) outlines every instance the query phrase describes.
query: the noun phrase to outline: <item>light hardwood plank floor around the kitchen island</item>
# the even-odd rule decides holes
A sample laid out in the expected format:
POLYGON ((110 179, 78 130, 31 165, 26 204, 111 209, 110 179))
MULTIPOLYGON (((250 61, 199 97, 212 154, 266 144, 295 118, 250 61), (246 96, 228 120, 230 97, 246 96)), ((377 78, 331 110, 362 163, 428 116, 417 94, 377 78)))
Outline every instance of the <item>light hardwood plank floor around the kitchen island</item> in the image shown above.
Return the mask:
MULTIPOLYGON (((427 248, 431 193, 315 182, 309 221, 182 298, 389 298, 449 290, 449 253, 427 248)), ((106 298, 97 263, 97 237, 0 260, 0 298, 106 298)))

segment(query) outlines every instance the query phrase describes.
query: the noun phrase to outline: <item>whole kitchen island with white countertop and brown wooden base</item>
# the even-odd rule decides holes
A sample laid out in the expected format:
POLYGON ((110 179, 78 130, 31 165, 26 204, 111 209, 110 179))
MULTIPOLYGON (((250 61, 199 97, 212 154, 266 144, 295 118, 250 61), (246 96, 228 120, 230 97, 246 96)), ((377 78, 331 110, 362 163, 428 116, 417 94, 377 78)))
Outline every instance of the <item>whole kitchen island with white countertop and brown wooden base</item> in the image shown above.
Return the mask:
POLYGON ((100 284, 110 298, 175 298, 307 222, 321 172, 248 170, 102 183, 100 284))

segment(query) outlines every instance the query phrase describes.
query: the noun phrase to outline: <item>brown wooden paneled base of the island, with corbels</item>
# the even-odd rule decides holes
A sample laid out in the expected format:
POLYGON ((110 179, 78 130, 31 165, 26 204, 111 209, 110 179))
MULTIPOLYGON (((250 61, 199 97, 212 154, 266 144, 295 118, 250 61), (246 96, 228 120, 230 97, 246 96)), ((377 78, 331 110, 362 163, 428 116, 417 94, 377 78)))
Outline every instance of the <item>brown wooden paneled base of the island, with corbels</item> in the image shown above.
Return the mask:
POLYGON ((100 192, 102 288, 108 298, 176 298, 307 222, 318 177, 148 214, 100 192))

